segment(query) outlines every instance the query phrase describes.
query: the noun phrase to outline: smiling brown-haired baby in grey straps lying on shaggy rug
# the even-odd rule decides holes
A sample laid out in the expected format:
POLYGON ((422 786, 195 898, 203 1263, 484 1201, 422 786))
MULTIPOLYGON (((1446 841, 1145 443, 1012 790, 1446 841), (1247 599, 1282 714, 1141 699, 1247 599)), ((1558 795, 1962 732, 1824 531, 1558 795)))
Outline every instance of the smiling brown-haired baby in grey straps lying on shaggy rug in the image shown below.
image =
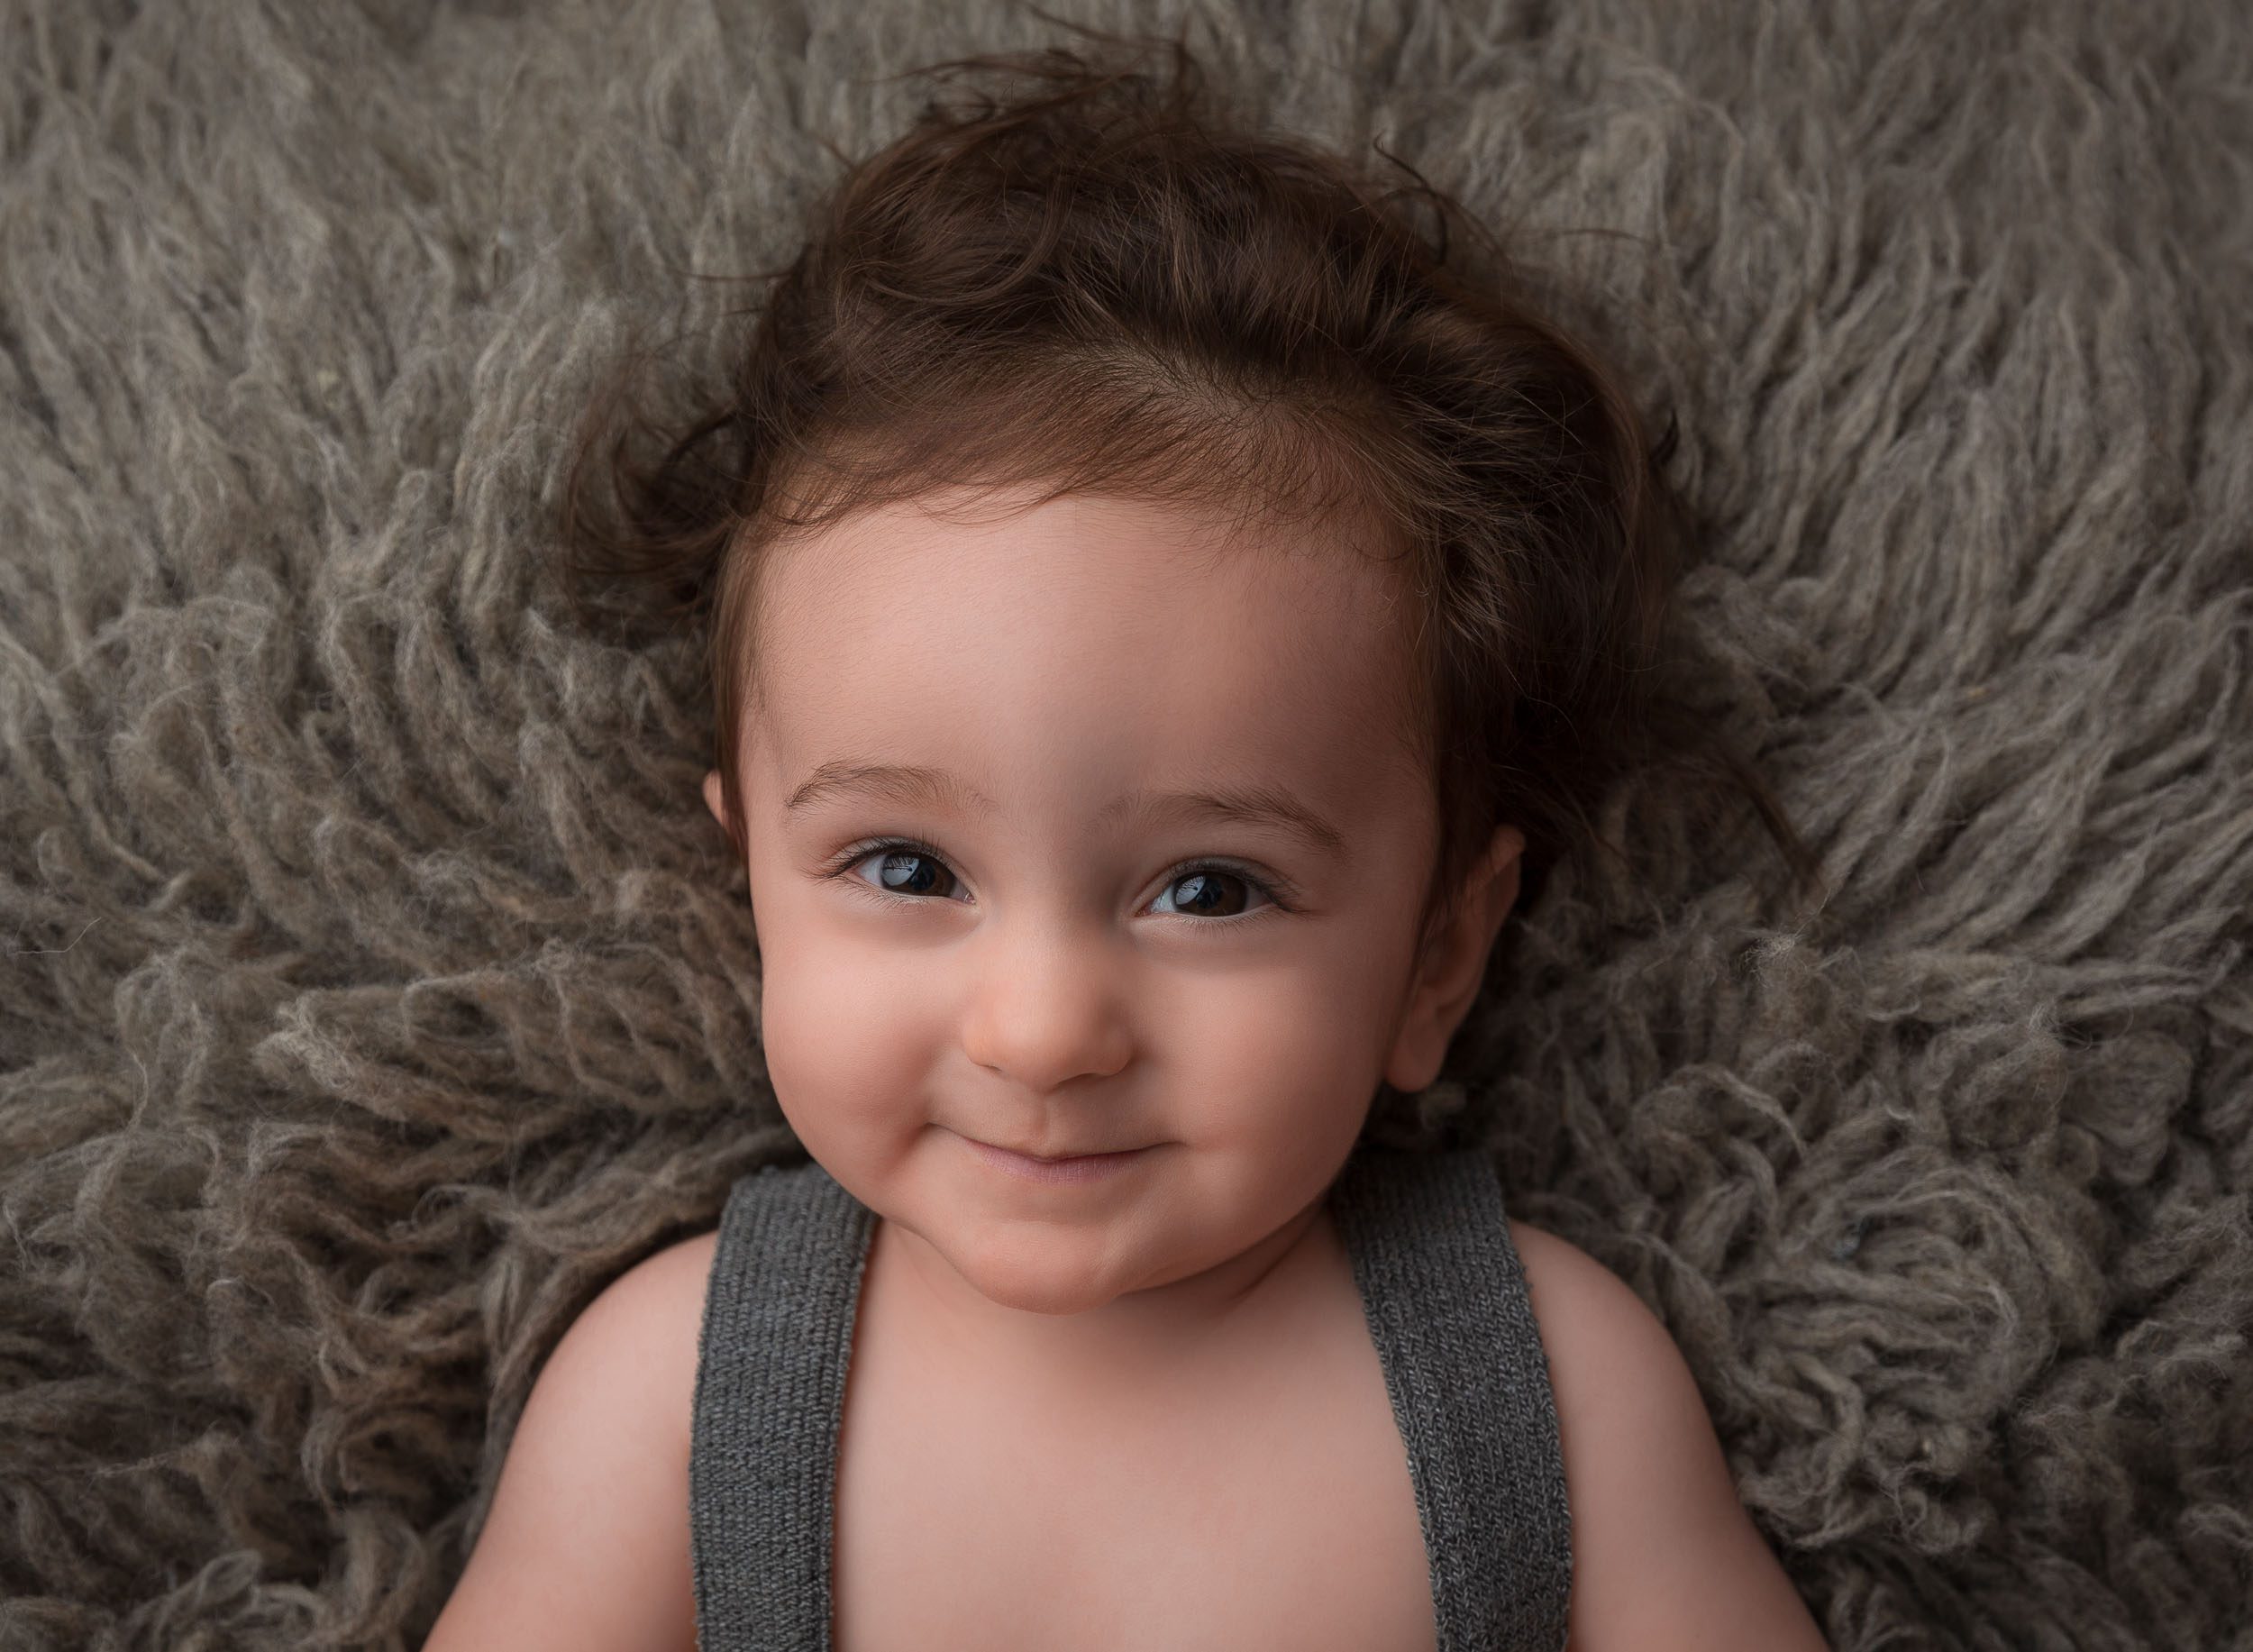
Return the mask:
POLYGON ((940 68, 572 518, 710 609, 809 1158, 570 1327, 428 1647, 1820 1647, 1658 1318, 1368 1140, 1629 764, 1807 870, 1631 403, 1178 45, 940 68))

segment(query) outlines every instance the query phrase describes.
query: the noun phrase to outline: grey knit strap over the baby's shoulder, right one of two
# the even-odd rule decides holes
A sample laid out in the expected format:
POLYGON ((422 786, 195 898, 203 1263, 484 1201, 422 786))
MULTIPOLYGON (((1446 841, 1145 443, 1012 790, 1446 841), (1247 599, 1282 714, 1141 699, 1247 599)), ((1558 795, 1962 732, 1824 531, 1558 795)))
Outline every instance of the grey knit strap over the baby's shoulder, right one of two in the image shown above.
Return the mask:
POLYGON ((1559 1652, 1573 1517, 1494 1161, 1361 1145, 1332 1219, 1408 1447, 1440 1652, 1559 1652))

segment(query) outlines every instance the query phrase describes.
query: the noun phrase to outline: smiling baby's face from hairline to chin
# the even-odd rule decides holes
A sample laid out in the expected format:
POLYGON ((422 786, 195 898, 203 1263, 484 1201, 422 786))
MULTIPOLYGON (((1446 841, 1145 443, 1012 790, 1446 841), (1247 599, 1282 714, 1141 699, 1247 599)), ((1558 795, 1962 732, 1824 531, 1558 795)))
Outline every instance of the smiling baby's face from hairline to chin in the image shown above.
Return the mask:
POLYGON ((1244 1253, 1320 1197, 1381 1077, 1431 1077, 1397 1048, 1433 820, 1390 572, 1214 532, 899 505, 764 572, 768 1075, 838 1183, 1005 1307, 1244 1253), (1138 1152, 1036 1183, 976 1143, 1138 1152))

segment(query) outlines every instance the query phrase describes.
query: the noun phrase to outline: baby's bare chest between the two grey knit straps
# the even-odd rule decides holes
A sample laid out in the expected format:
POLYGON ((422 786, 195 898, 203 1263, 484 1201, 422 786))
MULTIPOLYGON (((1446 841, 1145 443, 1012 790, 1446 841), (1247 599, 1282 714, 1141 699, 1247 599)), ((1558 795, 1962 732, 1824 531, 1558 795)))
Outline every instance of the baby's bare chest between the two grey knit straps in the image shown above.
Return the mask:
POLYGON ((838 1445, 834 1645, 1431 1652, 1383 1370, 1359 1325, 1341 1336, 1163 1427, 1099 1411, 1027 1424, 958 1384, 908 1382, 883 1357, 901 1350, 863 1339, 874 1357, 854 1364, 838 1445))

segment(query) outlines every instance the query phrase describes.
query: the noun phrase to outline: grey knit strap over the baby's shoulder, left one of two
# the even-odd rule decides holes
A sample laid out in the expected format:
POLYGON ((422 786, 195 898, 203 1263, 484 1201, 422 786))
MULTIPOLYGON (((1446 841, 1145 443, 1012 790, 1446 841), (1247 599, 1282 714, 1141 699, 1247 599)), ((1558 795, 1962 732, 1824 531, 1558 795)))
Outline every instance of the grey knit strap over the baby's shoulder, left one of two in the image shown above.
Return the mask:
POLYGON ((721 1213, 689 1433, 698 1652, 827 1652, 845 1370, 876 1215, 818 1163, 721 1213))

